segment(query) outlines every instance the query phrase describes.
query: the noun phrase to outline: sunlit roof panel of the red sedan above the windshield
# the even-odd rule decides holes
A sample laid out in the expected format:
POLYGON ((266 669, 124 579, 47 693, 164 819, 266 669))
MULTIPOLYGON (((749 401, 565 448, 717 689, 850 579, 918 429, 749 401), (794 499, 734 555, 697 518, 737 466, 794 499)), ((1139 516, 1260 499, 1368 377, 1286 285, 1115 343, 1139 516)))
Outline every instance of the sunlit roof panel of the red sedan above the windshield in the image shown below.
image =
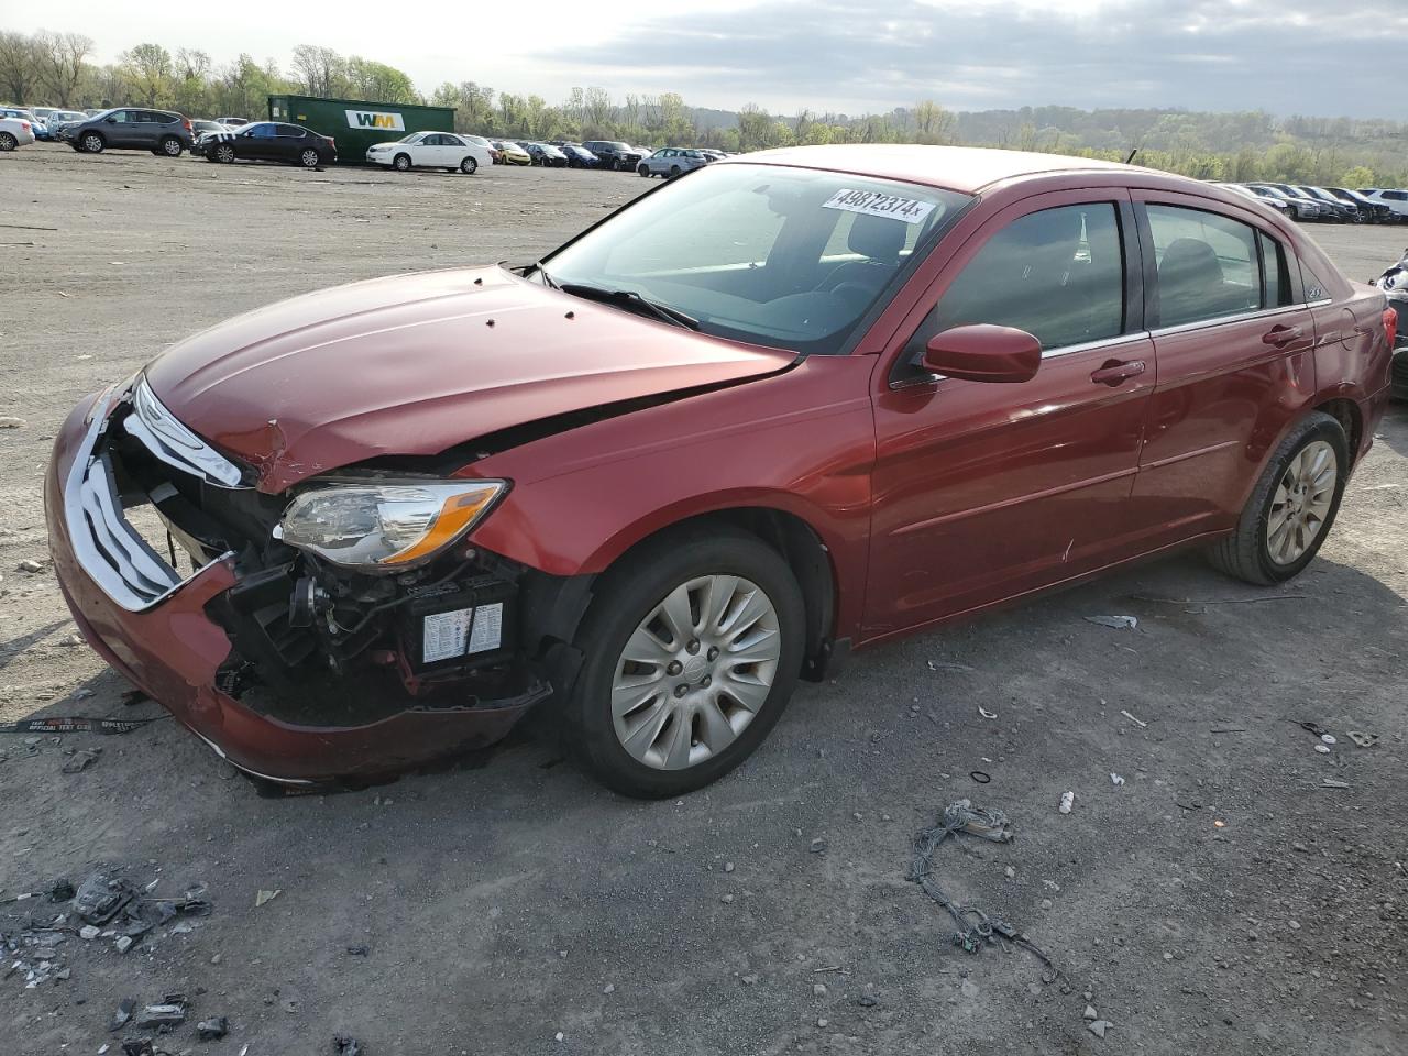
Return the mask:
MULTIPOLYGON (((1022 176, 1079 172, 1126 172, 1155 175, 1150 169, 1095 158, 1057 153, 1001 151, 986 146, 919 146, 917 144, 836 144, 829 146, 787 146, 759 151, 728 163, 796 165, 834 169, 879 179, 926 183, 972 194, 981 187, 1022 176)), ((1159 173, 1164 176, 1166 173, 1159 173)))

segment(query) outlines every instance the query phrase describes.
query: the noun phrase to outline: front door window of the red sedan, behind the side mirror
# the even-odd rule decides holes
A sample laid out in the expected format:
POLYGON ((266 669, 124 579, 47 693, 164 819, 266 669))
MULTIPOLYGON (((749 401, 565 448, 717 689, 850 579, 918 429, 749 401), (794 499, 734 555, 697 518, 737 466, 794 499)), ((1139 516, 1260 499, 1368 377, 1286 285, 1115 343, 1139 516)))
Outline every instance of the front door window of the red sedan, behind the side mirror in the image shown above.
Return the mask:
POLYGON ((910 339, 921 351, 955 327, 1024 329, 1042 351, 1118 337, 1125 329, 1125 263, 1112 201, 1019 217, 963 268, 910 339))

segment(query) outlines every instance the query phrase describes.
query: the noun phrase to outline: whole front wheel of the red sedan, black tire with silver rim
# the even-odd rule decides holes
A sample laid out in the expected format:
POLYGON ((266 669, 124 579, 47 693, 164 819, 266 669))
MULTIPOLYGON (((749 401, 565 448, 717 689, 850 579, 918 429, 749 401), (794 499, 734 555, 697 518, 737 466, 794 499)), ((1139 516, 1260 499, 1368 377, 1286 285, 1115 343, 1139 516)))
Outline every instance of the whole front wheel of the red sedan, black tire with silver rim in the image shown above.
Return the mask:
MULTIPOLYGON (((722 622, 729 624, 732 618, 722 622)), ((734 529, 696 529, 667 534, 645 543, 603 576, 577 634, 577 648, 587 659, 567 701, 566 719, 579 760, 604 786, 635 798, 681 796, 718 780, 753 753, 787 707, 801 670, 804 622, 801 589, 791 569, 753 535, 734 529), (694 590, 684 597, 696 601, 700 610, 710 608, 707 591, 719 587, 738 601, 736 607, 724 605, 734 618, 756 611, 759 596, 770 604, 770 610, 763 610, 763 615, 741 632, 735 631, 735 638, 729 641, 728 631, 711 635, 711 621, 703 612, 696 617, 696 610, 687 605, 683 612, 696 622, 689 634, 697 634, 697 639, 693 652, 689 646, 681 652, 676 648, 677 634, 672 639, 674 645, 666 646, 659 635, 646 635, 641 628, 653 612, 663 611, 665 601, 674 591, 689 584, 694 584, 694 590), (746 593, 749 587, 758 593, 746 593), (735 590, 736 594, 732 593, 735 590), (752 648, 776 650, 776 659, 752 665, 755 681, 727 680, 724 665, 729 652, 753 632, 760 636, 752 648), (646 635, 646 641, 652 642, 649 655, 677 655, 686 666, 673 659, 670 667, 628 660, 622 653, 636 635, 646 635), (710 645, 711 641, 719 642, 719 646, 710 645), (646 689, 645 701, 615 717, 614 686, 621 679, 639 679, 642 672, 636 669, 643 667, 652 667, 659 674, 642 684, 659 683, 662 690, 650 697, 646 689), (690 667, 697 670, 690 672, 690 667), (711 686, 714 673, 718 673, 718 687, 711 686), (672 689, 665 689, 672 683, 672 689), (686 686, 683 697, 679 696, 680 686, 686 686), (739 707, 739 701, 728 693, 734 686, 743 687, 743 694, 766 696, 760 703, 753 700, 750 708, 739 707), (749 686, 756 689, 748 690, 749 686), (712 721, 705 718, 705 711, 712 721), (658 718, 660 715, 663 718, 658 718), (631 735, 618 732, 618 728, 629 729, 632 721, 636 731, 634 752, 625 746, 631 735), (672 732, 683 735, 683 741, 672 732), (642 734, 650 739, 641 739, 642 734), (708 743, 714 736, 719 738, 717 750, 708 743), (666 769, 672 765, 672 749, 686 758, 698 758, 666 769), (652 758, 653 762, 646 762, 652 758)), ((666 629, 669 624, 659 621, 656 627, 666 629)))

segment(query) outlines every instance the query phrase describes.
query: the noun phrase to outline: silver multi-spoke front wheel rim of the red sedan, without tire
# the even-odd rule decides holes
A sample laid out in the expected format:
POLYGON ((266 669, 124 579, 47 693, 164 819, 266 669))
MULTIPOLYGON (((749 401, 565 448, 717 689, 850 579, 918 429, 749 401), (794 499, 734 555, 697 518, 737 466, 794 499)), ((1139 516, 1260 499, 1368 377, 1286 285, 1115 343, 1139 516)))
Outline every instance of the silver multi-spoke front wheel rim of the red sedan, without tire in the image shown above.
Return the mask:
POLYGON ((741 576, 681 583, 627 639, 611 681, 621 746, 655 770, 724 752, 756 718, 777 676, 777 610, 741 576))

